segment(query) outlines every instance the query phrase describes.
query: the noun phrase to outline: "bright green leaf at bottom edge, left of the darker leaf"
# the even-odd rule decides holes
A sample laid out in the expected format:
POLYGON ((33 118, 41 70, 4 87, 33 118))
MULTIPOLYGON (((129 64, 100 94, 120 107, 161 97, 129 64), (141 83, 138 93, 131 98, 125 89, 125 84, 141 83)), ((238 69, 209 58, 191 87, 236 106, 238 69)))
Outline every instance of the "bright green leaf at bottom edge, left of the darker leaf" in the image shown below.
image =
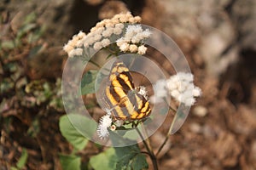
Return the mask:
POLYGON ((116 167, 117 156, 113 148, 90 158, 90 166, 95 170, 113 170, 116 167))

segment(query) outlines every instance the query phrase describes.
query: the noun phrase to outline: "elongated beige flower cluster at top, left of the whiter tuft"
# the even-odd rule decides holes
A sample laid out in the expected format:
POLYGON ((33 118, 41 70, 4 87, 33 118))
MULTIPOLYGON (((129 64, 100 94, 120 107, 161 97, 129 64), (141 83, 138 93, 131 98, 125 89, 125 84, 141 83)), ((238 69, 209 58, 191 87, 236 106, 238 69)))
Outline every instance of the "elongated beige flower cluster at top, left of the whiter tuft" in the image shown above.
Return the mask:
POLYGON ((130 12, 126 14, 116 14, 112 19, 106 19, 98 22, 95 27, 90 29, 90 32, 85 35, 80 31, 78 35, 74 35, 72 40, 64 46, 64 51, 69 57, 83 54, 83 48, 94 48, 100 50, 107 47, 110 42, 110 37, 120 35, 125 27, 125 23, 136 24, 141 21, 139 16, 133 17, 130 12))

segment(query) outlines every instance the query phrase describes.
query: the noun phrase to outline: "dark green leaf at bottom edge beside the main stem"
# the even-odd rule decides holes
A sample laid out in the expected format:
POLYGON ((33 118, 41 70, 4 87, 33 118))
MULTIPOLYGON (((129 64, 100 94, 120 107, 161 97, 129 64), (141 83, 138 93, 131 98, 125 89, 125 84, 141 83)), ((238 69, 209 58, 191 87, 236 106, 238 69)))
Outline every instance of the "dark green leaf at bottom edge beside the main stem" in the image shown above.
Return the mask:
POLYGON ((119 160, 116 169, 148 169, 146 156, 144 156, 137 144, 114 148, 119 160))

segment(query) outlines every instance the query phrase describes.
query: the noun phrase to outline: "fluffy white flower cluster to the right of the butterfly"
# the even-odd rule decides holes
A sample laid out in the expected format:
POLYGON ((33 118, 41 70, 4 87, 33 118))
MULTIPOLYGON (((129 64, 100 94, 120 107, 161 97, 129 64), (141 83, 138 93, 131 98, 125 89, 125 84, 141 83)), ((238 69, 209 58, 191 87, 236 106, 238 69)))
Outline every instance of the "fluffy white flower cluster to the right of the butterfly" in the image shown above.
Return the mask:
POLYGON ((201 88, 196 87, 193 81, 194 77, 191 73, 178 72, 167 80, 156 82, 154 85, 154 89, 156 89, 155 103, 160 102, 161 98, 170 94, 172 98, 184 105, 194 105, 195 97, 201 96, 201 88))

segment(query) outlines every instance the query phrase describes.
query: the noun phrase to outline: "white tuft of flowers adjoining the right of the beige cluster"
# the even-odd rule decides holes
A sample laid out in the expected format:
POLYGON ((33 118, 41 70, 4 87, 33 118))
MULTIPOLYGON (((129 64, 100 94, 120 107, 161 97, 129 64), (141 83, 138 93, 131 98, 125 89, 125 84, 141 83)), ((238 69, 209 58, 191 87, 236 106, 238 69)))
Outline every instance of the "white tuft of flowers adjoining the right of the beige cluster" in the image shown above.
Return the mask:
POLYGON ((125 37, 119 38, 116 43, 123 52, 130 51, 131 53, 145 54, 147 48, 144 45, 140 45, 140 43, 150 35, 151 32, 148 29, 143 31, 140 25, 130 25, 126 28, 125 37))

